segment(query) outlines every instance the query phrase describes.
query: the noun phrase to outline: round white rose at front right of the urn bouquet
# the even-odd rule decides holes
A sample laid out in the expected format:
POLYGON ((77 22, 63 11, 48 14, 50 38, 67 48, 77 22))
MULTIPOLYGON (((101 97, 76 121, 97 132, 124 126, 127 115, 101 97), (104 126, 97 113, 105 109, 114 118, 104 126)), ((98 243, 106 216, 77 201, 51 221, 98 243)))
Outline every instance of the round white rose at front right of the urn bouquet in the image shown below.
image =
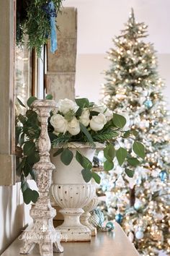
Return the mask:
POLYGON ((107 119, 104 114, 99 114, 98 116, 92 116, 92 119, 90 120, 90 127, 94 131, 100 131, 106 123, 107 119))

